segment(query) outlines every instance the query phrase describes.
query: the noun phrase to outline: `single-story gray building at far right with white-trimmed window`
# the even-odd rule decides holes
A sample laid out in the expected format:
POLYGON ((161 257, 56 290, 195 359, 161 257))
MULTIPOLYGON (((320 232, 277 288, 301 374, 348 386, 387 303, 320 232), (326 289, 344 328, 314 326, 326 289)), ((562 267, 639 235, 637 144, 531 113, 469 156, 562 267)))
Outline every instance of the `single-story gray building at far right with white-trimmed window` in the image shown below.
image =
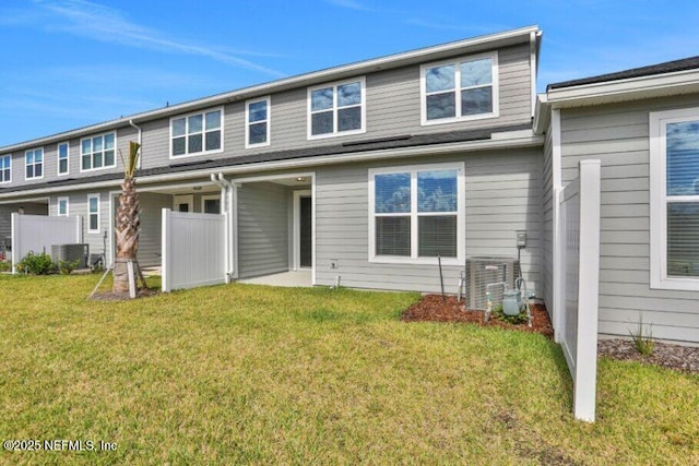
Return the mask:
POLYGON ((699 57, 550 84, 538 104, 546 301, 556 192, 578 160, 600 159, 600 333, 642 320, 654 337, 699 343, 699 57))

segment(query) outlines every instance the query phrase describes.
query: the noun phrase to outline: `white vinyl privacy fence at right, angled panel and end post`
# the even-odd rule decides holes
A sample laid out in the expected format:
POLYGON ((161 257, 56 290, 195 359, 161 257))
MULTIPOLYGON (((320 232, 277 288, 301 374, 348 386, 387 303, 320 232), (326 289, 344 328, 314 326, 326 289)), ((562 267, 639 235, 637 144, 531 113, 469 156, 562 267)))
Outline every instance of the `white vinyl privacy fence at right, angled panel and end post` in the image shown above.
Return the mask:
POLYGON ((559 196, 557 338, 573 382, 577 419, 594 421, 600 277, 600 160, 580 162, 580 175, 559 196))

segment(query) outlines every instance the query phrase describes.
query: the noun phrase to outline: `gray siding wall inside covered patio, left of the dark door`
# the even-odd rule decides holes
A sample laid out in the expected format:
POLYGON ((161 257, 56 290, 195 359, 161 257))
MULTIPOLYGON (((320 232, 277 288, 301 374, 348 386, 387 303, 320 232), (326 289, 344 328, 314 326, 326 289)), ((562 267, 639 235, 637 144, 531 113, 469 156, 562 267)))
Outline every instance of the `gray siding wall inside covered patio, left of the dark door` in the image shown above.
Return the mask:
POLYGON ((289 190, 271 182, 238 188, 239 278, 288 271, 289 190))

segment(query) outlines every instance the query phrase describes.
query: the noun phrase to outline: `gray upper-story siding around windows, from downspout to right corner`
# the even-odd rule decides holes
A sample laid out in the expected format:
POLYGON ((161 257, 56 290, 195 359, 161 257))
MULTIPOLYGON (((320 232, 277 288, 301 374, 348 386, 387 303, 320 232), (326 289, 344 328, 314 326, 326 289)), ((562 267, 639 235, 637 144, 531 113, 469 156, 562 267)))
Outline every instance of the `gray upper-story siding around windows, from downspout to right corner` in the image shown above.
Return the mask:
MULTIPOLYGON (((457 56, 454 58, 461 58, 457 56)), ((269 146, 245 148, 246 101, 226 104, 224 108, 223 150, 193 156, 170 158, 170 118, 139 123, 143 131, 142 167, 155 168, 197 160, 341 144, 404 134, 423 134, 464 129, 520 124, 531 121, 531 71, 529 46, 498 50, 499 117, 446 124, 420 124, 419 64, 365 74, 366 132, 308 140, 308 87, 303 86, 271 95, 269 146)), ((357 75, 356 77, 360 77, 357 75)), ((344 80, 343 80, 344 81, 344 80)), ((329 82, 329 84, 332 81, 329 82)), ((220 108, 213 106, 202 111, 220 108)), ((182 113, 189 115, 189 113, 182 113)), ((127 130, 135 131, 131 128, 127 130)), ((123 144, 128 144, 125 142, 123 144)), ((119 145, 123 145, 119 142, 119 145)), ((55 150, 55 148, 54 148, 55 150)), ((71 154, 72 155, 72 154, 71 154)), ((71 168, 71 174, 73 174, 71 168)))

